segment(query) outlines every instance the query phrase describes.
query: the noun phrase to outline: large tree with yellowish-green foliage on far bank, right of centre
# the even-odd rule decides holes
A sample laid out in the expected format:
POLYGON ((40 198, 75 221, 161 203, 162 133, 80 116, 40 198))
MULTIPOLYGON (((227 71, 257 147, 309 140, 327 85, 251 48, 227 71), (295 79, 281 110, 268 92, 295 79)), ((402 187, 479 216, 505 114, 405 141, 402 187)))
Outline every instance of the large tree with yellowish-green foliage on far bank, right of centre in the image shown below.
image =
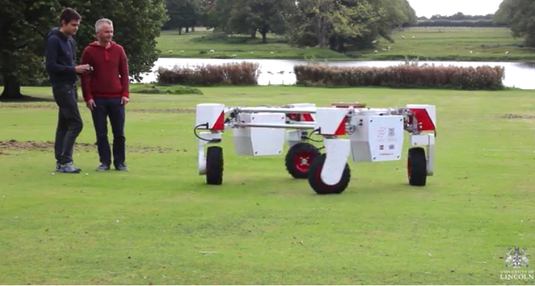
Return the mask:
POLYGON ((297 46, 346 48, 372 46, 377 36, 391 39, 393 28, 417 22, 406 0, 302 0, 291 22, 290 42, 297 46))

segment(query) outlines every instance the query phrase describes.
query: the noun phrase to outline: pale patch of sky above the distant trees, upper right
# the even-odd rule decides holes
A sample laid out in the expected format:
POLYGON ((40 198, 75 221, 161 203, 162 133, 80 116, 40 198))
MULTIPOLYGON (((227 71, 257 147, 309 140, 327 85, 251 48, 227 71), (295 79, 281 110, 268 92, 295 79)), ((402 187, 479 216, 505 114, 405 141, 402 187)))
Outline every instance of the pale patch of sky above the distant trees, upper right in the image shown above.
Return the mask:
POLYGON ((408 0, 418 17, 432 15, 487 15, 496 13, 503 0, 408 0))

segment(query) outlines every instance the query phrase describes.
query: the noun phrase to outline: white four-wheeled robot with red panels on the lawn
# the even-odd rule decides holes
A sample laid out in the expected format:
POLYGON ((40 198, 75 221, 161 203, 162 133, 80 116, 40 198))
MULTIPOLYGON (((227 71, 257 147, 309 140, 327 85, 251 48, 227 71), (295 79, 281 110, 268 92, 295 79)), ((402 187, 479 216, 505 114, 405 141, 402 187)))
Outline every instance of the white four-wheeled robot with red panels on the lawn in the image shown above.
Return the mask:
POLYGON ((309 103, 281 107, 198 104, 194 128, 198 175, 205 175, 207 184, 222 184, 222 147, 210 146, 205 152, 205 145, 222 142, 222 133, 231 128, 237 155, 280 155, 286 141, 290 149, 285 165, 292 177, 308 179, 318 194, 341 193, 351 179, 350 155, 354 162, 398 161, 405 130, 412 145, 407 156, 409 184, 425 186, 427 177, 433 175, 435 110, 428 104, 388 108, 367 108, 358 103, 333 107, 309 103), (324 147, 306 142, 313 140, 312 134, 323 137, 324 147), (325 153, 320 154, 320 149, 325 153))

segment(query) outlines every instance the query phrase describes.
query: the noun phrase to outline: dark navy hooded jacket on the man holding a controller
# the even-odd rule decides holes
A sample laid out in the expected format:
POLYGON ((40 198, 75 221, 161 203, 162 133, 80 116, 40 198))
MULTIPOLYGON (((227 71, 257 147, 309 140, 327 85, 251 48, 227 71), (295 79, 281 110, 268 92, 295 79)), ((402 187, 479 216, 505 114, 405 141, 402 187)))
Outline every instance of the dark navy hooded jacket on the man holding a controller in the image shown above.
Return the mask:
POLYGON ((51 29, 46 39, 45 57, 52 86, 76 83, 76 46, 71 36, 60 32, 59 28, 51 29))

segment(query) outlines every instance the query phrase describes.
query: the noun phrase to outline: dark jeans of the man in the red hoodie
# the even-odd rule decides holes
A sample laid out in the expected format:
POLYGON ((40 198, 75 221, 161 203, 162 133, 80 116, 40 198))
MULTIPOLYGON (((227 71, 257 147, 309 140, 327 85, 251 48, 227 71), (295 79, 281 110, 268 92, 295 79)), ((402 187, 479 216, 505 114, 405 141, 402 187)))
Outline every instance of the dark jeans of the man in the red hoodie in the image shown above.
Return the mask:
POLYGON ((111 123, 111 132, 114 135, 114 165, 125 163, 126 150, 124 135, 125 107, 121 105, 121 97, 95 97, 96 107, 93 108, 93 125, 97 134, 98 155, 100 163, 111 165, 111 150, 108 141, 108 122, 111 123))

